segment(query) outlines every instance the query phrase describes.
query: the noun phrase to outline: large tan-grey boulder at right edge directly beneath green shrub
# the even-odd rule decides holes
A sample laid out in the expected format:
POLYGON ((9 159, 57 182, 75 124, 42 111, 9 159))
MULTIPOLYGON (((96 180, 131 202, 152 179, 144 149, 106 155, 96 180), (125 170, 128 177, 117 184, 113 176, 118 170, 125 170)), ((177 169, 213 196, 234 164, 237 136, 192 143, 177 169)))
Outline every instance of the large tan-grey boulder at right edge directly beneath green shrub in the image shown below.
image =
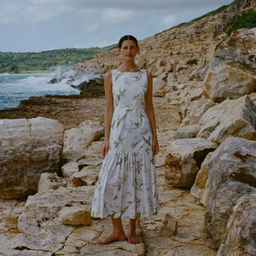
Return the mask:
POLYGON ((256 89, 256 28, 241 29, 219 43, 205 79, 214 102, 238 98, 256 89))

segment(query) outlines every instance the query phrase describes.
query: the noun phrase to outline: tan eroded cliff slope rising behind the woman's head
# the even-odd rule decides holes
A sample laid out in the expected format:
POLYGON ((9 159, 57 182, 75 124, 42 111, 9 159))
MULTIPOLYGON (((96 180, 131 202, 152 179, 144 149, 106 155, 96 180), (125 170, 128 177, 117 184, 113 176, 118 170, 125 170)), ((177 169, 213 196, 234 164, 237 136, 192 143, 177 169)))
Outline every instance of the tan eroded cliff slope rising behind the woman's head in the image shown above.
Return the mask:
MULTIPOLYGON (((216 15, 145 38, 139 42, 141 51, 137 55, 137 64, 150 69, 158 79, 183 83, 197 67, 211 61, 216 41, 226 37, 230 24, 241 14, 252 10, 256 10, 254 0, 236 0, 216 15), (197 60, 197 65, 188 67, 186 62, 193 59, 197 60)), ((79 63, 77 69, 82 73, 91 69, 106 73, 120 63, 117 49, 113 49, 96 55, 91 61, 79 63)))

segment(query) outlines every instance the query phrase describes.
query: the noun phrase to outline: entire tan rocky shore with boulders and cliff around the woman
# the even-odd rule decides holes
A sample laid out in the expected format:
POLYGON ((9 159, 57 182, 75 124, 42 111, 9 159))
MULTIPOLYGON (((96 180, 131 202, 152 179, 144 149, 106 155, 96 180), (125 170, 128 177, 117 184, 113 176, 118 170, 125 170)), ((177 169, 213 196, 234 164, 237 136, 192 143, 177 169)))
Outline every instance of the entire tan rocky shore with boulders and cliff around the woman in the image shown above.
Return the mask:
MULTIPOLYGON (((139 42, 139 66, 154 73, 160 212, 138 220, 137 245, 95 243, 111 230, 90 218, 102 95, 32 97, 0 111, 0 254, 255 255, 256 28, 225 34, 252 10, 255 1, 234 1, 139 42)), ((113 49, 77 69, 118 65, 113 49)))

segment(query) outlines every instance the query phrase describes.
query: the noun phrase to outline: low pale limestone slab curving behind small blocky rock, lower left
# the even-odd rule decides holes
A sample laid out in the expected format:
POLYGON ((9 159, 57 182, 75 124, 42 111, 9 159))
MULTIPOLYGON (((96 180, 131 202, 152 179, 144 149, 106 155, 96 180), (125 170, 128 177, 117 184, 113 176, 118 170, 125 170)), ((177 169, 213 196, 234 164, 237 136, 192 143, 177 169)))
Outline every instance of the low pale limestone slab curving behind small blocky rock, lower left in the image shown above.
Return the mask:
MULTIPOLYGON (((61 228, 59 212, 63 207, 83 205, 90 212, 94 194, 93 187, 63 188, 31 195, 27 198, 25 210, 20 214, 18 229, 24 234, 36 234, 41 229, 61 228), (51 224, 51 225, 50 225, 51 224)), ((72 208, 71 208, 72 209, 72 208)))

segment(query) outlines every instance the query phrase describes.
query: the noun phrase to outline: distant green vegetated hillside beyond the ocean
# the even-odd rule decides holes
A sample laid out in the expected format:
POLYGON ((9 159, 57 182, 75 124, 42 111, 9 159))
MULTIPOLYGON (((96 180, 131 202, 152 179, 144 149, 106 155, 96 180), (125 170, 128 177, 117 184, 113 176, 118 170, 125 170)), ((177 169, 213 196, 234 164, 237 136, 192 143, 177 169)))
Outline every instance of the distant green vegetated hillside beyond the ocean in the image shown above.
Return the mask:
POLYGON ((76 64, 94 55, 113 49, 115 45, 90 49, 54 49, 42 52, 1 52, 0 73, 45 73, 49 67, 76 64))

